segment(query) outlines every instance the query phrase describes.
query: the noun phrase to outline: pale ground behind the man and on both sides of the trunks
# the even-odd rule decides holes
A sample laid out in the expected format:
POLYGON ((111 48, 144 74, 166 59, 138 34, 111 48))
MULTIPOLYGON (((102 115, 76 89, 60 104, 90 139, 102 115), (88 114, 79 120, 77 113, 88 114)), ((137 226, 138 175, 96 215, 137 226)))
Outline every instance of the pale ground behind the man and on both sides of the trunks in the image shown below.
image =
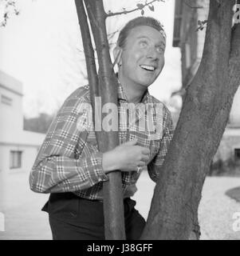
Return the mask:
MULTIPOLYGON (((5 198, 5 232, 0 231, 0 240, 6 239, 52 239, 49 230, 48 214, 41 211, 49 194, 33 193, 29 189, 27 172, 11 173, 7 178, 7 196, 5 198)), ((146 219, 151 205, 155 186, 142 173, 137 183, 138 191, 134 199, 136 209, 146 219)), ((199 224, 201 239, 239 239, 238 230, 234 229, 234 213, 240 216, 240 203, 229 198, 225 193, 240 186, 240 178, 208 177, 203 186, 203 198, 199 205, 199 224), (235 231, 234 231, 235 230, 235 231)), ((236 215, 236 214, 235 214, 236 215)), ((235 225, 236 227, 236 225, 235 225)))

